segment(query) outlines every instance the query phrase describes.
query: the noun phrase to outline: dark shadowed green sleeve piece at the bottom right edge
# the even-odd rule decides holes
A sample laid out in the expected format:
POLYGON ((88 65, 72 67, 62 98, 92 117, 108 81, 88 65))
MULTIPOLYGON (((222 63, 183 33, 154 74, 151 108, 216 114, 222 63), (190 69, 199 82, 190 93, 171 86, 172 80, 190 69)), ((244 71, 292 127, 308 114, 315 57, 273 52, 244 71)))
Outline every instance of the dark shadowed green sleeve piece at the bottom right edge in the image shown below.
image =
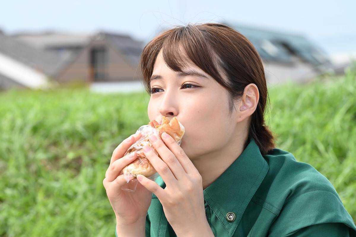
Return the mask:
POLYGON ((350 228, 343 223, 323 223, 308 226, 284 237, 351 237, 350 228))

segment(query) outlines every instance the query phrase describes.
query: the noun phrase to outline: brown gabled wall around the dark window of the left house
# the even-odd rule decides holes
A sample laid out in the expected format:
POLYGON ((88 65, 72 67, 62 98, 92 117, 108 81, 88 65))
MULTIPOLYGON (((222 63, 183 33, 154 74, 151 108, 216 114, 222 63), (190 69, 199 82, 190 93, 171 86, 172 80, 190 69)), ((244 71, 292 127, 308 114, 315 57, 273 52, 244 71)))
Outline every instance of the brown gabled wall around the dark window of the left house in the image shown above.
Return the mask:
POLYGON ((85 47, 77 57, 70 61, 56 77, 60 83, 70 81, 94 81, 93 69, 90 67, 90 51, 95 47, 105 47, 107 50, 107 63, 105 81, 139 80, 136 66, 125 58, 116 48, 112 47, 105 39, 95 40, 85 47))

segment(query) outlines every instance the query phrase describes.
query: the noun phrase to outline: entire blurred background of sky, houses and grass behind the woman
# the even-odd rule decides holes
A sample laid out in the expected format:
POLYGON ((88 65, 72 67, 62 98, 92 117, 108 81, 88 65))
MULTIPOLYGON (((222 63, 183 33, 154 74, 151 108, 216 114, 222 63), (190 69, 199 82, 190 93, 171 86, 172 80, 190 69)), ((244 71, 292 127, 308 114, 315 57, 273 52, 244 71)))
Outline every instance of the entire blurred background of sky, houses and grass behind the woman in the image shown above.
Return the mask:
POLYGON ((277 147, 356 220, 356 1, 13 0, 0 5, 0 236, 114 236, 102 181, 148 123, 137 70, 172 25, 221 22, 265 66, 277 147))

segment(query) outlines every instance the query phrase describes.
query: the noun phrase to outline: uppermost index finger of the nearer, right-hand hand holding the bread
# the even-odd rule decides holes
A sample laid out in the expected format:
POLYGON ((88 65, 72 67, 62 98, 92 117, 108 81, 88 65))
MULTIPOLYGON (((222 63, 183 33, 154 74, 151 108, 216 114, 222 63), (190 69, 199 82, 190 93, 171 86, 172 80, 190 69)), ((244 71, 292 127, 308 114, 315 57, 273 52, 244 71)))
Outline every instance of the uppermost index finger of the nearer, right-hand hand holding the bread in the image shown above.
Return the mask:
POLYGON ((195 168, 192 161, 185 154, 182 147, 178 145, 176 140, 173 139, 173 137, 169 136, 167 133, 164 132, 162 133, 161 138, 166 144, 167 148, 174 154, 174 157, 176 157, 180 165, 182 165, 186 173, 191 174, 198 172, 197 168, 195 168))

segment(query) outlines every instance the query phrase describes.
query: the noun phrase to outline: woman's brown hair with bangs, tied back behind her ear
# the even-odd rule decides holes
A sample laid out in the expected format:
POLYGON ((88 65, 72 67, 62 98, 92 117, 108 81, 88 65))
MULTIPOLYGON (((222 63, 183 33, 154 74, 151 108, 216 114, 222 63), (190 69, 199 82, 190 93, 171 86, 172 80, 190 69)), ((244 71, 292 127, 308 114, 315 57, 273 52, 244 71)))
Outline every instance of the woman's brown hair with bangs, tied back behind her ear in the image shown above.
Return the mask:
POLYGON ((151 89, 150 78, 161 50, 164 62, 172 70, 182 72, 182 68, 191 62, 224 86, 230 96, 230 112, 235 109, 234 104, 241 99, 245 87, 250 83, 256 84, 260 99, 251 115, 248 137, 255 140, 262 154, 274 147, 273 134, 264 120, 268 100, 265 72, 259 54, 245 36, 229 26, 216 23, 178 26, 164 31, 153 38, 142 52, 141 70, 147 91, 151 89))

